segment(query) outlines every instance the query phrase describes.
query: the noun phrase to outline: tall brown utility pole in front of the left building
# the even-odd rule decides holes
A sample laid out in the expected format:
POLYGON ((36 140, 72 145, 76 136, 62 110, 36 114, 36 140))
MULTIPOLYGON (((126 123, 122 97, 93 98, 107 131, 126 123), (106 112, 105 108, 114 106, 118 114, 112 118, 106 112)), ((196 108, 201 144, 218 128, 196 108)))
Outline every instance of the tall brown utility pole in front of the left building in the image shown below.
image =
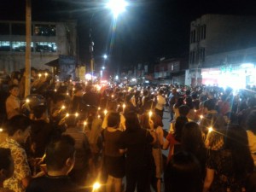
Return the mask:
POLYGON ((26 62, 25 96, 30 95, 31 81, 31 0, 26 0, 26 62))

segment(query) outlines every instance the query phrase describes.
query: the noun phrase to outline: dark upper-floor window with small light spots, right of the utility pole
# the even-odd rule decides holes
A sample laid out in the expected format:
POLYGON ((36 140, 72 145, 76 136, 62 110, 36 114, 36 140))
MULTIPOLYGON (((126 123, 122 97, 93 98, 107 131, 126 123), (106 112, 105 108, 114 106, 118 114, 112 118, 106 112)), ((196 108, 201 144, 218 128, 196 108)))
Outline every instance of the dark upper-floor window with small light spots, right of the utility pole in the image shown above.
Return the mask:
POLYGON ((42 25, 35 24, 34 35, 37 36, 56 36, 56 26, 55 25, 42 25))

